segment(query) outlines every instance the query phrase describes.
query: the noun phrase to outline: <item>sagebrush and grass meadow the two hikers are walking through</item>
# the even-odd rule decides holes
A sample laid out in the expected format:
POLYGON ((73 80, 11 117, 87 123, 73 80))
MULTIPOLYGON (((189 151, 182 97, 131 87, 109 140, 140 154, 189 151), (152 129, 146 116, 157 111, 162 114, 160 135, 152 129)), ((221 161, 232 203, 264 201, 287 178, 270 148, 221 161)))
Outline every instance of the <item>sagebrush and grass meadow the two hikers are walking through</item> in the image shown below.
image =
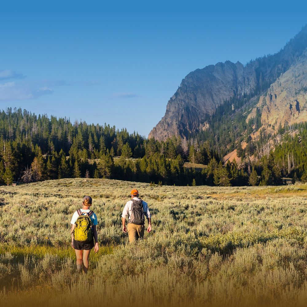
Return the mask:
POLYGON ((306 306, 306 210, 307 185, 2 186, 0 306, 306 306), (120 216, 132 188, 148 202, 153 231, 128 244, 120 216), (100 250, 78 275, 69 232, 84 195, 93 198, 100 250))

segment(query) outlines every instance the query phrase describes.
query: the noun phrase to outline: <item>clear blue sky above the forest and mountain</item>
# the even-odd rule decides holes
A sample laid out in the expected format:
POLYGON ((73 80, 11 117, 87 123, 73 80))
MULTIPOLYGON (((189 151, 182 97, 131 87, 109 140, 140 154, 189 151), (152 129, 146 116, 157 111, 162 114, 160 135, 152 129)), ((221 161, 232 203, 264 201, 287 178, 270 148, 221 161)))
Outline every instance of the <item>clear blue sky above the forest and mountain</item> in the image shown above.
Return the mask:
POLYGON ((0 108, 147 136, 191 71, 278 52, 304 2, 10 2, 0 7, 0 108))

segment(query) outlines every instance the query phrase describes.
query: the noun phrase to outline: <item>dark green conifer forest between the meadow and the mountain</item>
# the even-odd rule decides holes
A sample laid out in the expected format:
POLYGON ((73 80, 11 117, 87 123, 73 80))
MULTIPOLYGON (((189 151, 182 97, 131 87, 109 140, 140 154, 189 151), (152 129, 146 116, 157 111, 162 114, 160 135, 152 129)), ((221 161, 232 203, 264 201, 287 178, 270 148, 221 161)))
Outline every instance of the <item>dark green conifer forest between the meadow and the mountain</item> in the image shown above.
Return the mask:
MULTIPOLYGON (((307 126, 301 130, 306 134, 307 126)), ((245 148, 243 155, 238 145, 240 165, 235 160, 224 165, 209 140, 172 137, 159 142, 107 124, 72 123, 9 108, 0 113, 0 183, 86 177, 160 185, 274 185, 289 171, 289 159, 287 175, 307 180, 307 164, 298 162, 300 157, 306 161, 304 144, 297 137, 286 139, 251 164, 246 159, 251 152, 245 148), (187 161, 191 164, 185 167, 187 161)))

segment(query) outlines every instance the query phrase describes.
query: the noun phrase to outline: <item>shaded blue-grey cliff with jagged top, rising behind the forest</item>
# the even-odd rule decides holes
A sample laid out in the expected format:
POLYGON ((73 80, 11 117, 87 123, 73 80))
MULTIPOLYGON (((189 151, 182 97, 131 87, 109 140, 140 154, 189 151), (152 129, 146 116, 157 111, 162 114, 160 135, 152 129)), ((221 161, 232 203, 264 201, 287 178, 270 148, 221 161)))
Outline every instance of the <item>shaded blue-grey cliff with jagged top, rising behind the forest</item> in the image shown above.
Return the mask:
POLYGON ((189 73, 169 100, 165 115, 149 138, 163 140, 173 135, 188 138, 207 129, 205 118, 212 115, 216 107, 234 95, 246 93, 252 97, 266 91, 297 62, 306 48, 307 26, 275 55, 257 59, 246 66, 226 61, 189 73))

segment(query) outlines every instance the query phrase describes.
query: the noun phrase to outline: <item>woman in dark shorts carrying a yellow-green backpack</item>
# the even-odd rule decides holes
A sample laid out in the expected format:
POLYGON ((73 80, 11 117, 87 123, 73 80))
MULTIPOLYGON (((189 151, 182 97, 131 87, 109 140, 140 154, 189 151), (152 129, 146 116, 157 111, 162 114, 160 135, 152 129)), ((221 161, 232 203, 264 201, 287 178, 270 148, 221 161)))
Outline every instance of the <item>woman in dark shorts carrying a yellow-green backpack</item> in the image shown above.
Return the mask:
POLYGON ((88 259, 91 249, 95 246, 95 253, 98 252, 98 237, 97 237, 97 216, 90 210, 92 204, 91 196, 84 196, 83 208, 78 209, 72 216, 71 234, 72 234, 72 248, 75 249, 77 257, 77 270, 82 272, 82 259, 83 259, 83 271, 88 271, 88 259), (87 218, 89 217, 89 219, 87 218), (77 222, 77 223, 76 223, 77 222), (76 229, 75 229, 76 227, 76 229), (95 243, 94 243, 95 239, 95 243), (83 255, 82 255, 83 253, 83 255))

